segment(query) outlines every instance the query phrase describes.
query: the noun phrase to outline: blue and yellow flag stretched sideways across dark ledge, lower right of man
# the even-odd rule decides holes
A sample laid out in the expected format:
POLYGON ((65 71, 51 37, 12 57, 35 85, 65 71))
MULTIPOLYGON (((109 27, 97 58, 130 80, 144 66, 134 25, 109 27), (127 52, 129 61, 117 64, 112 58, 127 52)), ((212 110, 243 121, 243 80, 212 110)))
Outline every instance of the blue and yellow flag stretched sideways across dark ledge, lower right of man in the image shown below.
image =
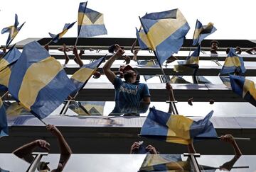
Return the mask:
POLYGON ((140 134, 142 137, 179 144, 190 144, 193 139, 217 137, 210 122, 212 115, 213 110, 203 120, 194 121, 183 115, 171 115, 150 108, 140 134))

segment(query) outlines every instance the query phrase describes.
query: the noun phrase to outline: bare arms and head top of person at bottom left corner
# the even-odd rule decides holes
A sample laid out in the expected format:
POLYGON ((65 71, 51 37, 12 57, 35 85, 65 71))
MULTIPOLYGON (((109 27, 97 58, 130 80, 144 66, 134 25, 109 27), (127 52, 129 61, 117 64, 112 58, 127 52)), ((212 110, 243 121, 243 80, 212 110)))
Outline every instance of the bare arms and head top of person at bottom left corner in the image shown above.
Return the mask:
MULTIPOLYGON (((72 154, 72 150, 70 149, 68 142, 66 142, 65 138, 63 137, 63 134, 61 134, 60 130, 58 130, 55 125, 47 125, 46 130, 53 134, 53 136, 58 140, 58 147, 60 149, 60 160, 58 166, 52 171, 63 171, 65 164, 68 162, 68 159, 72 154)), ((19 147, 18 149, 13 151, 13 153, 19 158, 31 164, 34 159, 32 153, 33 151, 38 150, 38 148, 43 149, 43 151, 49 152, 50 143, 48 143, 44 139, 36 139, 33 142, 24 144, 22 147, 19 147)), ((49 162, 41 161, 37 166, 38 171, 50 171, 48 164, 49 162)))

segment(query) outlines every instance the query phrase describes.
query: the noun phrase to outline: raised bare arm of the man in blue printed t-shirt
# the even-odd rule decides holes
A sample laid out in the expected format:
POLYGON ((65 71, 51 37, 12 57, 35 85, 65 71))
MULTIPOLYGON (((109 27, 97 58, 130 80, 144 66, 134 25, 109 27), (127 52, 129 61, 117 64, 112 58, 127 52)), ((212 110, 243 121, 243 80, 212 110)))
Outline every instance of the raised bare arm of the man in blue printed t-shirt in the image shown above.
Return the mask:
POLYGON ((110 57, 110 59, 107 60, 107 62, 105 63, 105 65, 103 67, 103 71, 104 71, 105 75, 107 76, 107 79, 112 84, 114 84, 114 79, 117 76, 114 74, 113 71, 111 71, 110 67, 114 63, 114 60, 116 60, 118 57, 122 57, 123 54, 124 54, 124 50, 119 49, 115 55, 113 55, 112 57, 110 57))

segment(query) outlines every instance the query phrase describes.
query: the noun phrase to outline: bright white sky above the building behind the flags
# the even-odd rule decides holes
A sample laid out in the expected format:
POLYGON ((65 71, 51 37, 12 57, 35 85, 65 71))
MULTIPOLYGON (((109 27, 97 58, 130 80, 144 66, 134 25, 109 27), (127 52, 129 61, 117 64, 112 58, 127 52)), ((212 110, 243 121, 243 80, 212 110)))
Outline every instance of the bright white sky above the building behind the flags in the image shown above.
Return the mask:
MULTIPOLYGON (((14 25, 14 15, 19 23, 26 21, 14 42, 26 38, 46 38, 50 33, 60 33, 65 23, 77 21, 78 0, 1 1, 0 28, 14 25)), ((179 8, 191 26, 186 38, 192 38, 196 19, 203 25, 212 22, 217 31, 207 39, 256 40, 255 0, 89 0, 88 8, 104 13, 107 38, 135 38, 135 27, 140 26, 139 16, 151 12, 179 8)), ((64 37, 76 37, 77 25, 64 37)), ((8 33, 0 35, 0 45, 6 44, 8 33)))

